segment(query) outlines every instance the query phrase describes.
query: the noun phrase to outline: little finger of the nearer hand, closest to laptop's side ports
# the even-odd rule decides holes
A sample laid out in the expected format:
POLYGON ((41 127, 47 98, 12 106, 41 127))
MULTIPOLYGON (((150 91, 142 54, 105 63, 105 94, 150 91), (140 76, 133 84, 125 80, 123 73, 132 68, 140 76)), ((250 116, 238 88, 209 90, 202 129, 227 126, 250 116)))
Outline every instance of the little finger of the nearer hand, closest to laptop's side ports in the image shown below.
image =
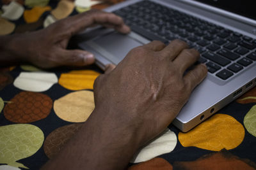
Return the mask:
POLYGON ((204 80, 207 75, 207 67, 205 64, 198 64, 193 69, 191 69, 184 76, 185 84, 188 85, 190 91, 192 91, 196 85, 198 85, 202 80, 204 80))

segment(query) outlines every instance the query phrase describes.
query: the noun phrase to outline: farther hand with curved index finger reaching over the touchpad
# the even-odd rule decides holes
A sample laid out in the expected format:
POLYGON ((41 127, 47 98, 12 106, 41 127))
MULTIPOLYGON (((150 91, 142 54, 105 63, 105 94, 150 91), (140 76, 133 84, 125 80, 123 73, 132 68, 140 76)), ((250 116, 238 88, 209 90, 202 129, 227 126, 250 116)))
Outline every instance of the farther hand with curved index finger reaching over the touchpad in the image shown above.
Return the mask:
POLYGON ((43 68, 92 64, 94 62, 92 53, 66 48, 72 36, 95 25, 111 27, 122 33, 130 31, 122 18, 113 13, 91 10, 59 20, 40 31, 20 34, 11 41, 14 49, 12 51, 20 56, 22 61, 43 68))

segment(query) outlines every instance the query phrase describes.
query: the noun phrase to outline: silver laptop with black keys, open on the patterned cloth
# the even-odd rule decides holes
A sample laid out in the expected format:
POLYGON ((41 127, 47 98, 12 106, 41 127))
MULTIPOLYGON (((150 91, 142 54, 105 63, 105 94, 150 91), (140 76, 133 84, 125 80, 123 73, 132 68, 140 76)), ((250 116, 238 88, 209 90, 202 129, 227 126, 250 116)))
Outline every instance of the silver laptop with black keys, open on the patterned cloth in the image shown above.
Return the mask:
POLYGON ((107 8, 124 18, 124 35, 97 27, 79 35, 79 46, 104 69, 136 46, 182 39, 200 52, 207 77, 193 90, 173 124, 188 132, 256 84, 256 1, 130 0, 107 8), (89 35, 89 36, 88 36, 89 35))

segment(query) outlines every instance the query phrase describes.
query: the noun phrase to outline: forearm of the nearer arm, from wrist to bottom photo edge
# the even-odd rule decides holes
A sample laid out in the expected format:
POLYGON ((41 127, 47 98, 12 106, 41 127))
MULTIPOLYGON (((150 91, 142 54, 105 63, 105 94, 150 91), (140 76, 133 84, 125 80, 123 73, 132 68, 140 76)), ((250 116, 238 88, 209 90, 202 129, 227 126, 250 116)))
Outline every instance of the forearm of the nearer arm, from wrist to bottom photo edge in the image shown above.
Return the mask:
POLYGON ((93 111, 76 136, 44 169, 124 169, 138 150, 140 138, 128 133, 122 122, 109 124, 113 120, 98 117, 99 114, 106 113, 93 111))

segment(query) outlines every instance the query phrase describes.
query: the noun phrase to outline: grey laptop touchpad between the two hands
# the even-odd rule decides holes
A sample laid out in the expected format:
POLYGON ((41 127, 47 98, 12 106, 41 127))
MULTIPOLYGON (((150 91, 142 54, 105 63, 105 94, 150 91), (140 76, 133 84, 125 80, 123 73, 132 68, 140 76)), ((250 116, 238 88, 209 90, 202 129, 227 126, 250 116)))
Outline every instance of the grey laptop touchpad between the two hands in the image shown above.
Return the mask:
POLYGON ((113 32, 93 39, 90 46, 114 64, 118 64, 136 46, 143 45, 131 36, 113 32))

